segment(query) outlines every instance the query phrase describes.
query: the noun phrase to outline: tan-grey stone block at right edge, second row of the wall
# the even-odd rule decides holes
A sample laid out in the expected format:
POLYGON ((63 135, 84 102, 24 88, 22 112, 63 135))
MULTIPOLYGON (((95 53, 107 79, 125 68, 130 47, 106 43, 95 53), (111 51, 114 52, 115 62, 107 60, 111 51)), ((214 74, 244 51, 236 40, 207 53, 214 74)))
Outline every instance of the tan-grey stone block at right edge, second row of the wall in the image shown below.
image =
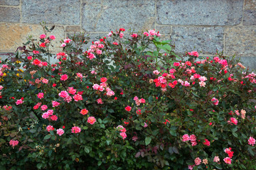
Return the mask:
POLYGON ((225 30, 225 55, 255 57, 256 28, 254 26, 239 26, 225 30))

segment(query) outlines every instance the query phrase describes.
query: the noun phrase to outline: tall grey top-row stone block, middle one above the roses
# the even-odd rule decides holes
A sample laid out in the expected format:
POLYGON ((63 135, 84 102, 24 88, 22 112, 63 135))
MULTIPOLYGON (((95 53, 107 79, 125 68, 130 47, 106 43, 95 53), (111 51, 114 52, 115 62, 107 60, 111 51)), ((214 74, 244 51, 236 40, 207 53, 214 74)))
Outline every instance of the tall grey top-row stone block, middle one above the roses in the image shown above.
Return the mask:
POLYGON ((85 31, 154 28, 154 0, 87 0, 82 6, 82 28, 85 31))

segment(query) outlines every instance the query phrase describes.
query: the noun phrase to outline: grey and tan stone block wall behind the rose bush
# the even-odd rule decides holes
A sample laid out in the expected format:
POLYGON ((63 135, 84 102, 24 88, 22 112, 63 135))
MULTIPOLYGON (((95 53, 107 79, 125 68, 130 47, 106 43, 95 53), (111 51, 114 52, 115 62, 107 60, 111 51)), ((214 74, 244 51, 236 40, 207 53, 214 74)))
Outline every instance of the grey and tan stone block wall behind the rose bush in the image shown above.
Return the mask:
POLYGON ((0 0, 0 52, 42 34, 41 21, 55 25, 56 42, 79 31, 95 37, 117 28, 156 29, 176 52, 223 50, 256 69, 256 0, 0 0))

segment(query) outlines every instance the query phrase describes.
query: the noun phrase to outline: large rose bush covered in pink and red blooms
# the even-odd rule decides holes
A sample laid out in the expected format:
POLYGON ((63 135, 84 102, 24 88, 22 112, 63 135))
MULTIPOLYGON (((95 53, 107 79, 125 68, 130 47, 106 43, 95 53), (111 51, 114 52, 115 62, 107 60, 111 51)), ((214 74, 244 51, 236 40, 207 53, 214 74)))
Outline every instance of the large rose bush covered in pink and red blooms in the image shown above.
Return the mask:
POLYGON ((1 61, 1 169, 256 169, 256 74, 234 57, 124 28, 52 54, 53 28, 1 61))

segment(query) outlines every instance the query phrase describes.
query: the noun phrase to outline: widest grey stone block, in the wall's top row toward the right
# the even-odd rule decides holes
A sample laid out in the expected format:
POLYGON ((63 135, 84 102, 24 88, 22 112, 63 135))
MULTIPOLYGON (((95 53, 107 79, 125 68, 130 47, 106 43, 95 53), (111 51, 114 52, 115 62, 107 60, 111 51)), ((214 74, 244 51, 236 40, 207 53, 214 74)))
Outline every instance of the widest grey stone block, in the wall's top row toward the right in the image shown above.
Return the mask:
POLYGON ((242 0, 157 1, 159 24, 234 26, 242 20, 242 0))

